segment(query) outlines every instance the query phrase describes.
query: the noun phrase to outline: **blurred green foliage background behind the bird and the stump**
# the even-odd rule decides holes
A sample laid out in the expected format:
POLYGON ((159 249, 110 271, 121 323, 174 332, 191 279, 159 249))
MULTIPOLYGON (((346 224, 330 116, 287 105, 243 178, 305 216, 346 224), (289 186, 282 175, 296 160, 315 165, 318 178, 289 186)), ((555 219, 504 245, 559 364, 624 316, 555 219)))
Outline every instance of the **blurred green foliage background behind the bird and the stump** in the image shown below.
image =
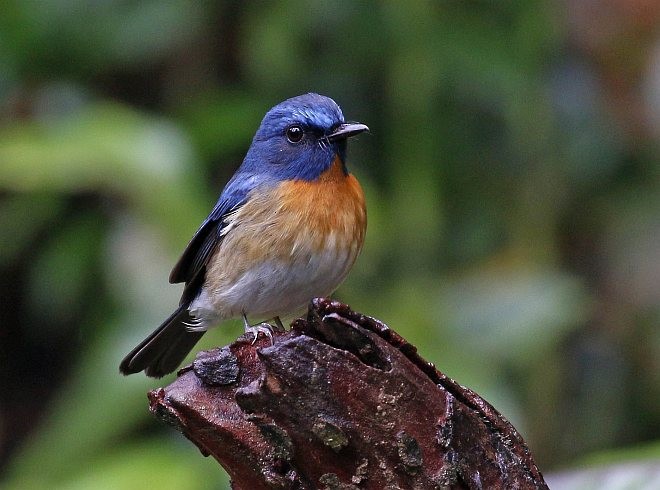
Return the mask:
POLYGON ((149 415, 168 378, 118 364, 177 304, 169 270, 263 114, 309 91, 371 128, 336 296, 489 400, 545 474, 630 461, 648 483, 659 25, 642 0, 0 3, 0 487, 227 488, 149 415))

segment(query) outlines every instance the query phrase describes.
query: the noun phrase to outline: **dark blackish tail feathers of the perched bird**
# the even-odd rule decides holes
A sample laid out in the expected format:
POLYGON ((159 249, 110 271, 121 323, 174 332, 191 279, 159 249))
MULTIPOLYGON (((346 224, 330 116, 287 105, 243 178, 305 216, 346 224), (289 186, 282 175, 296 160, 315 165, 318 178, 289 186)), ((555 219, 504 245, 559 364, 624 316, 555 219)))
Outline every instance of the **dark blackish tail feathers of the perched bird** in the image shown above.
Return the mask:
POLYGON ((204 331, 186 328, 192 323, 188 305, 183 303, 121 361, 119 371, 124 375, 144 371, 152 378, 171 373, 204 335, 204 331))

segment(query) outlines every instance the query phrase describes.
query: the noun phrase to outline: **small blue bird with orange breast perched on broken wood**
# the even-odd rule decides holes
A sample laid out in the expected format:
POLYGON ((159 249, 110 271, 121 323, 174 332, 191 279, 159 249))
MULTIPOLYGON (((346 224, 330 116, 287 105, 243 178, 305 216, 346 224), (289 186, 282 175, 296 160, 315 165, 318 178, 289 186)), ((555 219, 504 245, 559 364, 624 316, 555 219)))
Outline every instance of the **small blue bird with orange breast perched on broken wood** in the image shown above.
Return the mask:
POLYGON ((264 333, 272 343, 272 331, 284 328, 280 317, 331 295, 365 239, 364 193, 346 166, 348 138, 365 131, 316 93, 271 108, 172 269, 170 283, 184 283, 178 308, 120 372, 169 374, 209 328, 231 318, 242 318, 254 340, 264 333))

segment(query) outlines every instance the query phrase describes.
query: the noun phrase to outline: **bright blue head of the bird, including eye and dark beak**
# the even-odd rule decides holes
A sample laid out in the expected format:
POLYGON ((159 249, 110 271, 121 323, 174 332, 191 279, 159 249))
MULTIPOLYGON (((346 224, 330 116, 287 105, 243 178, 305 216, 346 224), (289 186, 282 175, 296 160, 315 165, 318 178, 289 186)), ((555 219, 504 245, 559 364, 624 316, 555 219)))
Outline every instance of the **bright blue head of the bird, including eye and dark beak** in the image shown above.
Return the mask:
POLYGON ((346 123, 329 97, 299 95, 266 113, 239 172, 274 180, 315 180, 337 156, 344 165, 346 139, 366 130, 364 124, 346 123))

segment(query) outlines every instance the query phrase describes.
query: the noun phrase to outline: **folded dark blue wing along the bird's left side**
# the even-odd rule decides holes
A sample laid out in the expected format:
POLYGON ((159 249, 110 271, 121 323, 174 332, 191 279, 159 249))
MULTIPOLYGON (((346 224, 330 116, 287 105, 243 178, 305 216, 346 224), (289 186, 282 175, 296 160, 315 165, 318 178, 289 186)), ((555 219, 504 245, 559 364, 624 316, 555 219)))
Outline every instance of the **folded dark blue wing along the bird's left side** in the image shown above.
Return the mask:
MULTIPOLYGON (((228 213, 240 208, 247 200, 248 193, 265 181, 264 177, 237 173, 222 191, 218 202, 211 214, 204 220, 195 235, 183 251, 181 258, 170 273, 170 283, 185 282, 186 290, 197 289, 190 284, 194 279, 203 276, 206 264, 213 251, 222 240, 222 229, 226 226, 224 221, 228 213)), ((188 291, 196 294, 196 291, 188 291)), ((184 297, 189 296, 184 293, 184 297)))

